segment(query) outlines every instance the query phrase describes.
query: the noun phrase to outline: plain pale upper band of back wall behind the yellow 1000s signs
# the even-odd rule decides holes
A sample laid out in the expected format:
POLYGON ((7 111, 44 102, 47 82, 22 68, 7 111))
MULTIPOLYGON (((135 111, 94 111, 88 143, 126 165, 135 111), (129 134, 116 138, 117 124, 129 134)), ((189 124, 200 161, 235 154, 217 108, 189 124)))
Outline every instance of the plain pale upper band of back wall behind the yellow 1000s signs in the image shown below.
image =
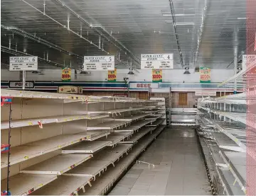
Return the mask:
MULTIPOLYGON (((127 75, 128 69, 117 69, 117 81, 124 81, 124 77, 128 77, 130 81, 152 81, 151 69, 139 69, 134 71, 134 75, 127 75)), ((199 83, 200 74, 194 73, 183 74, 183 69, 164 69, 163 82, 177 83, 199 83)), ((72 70, 71 81, 107 81, 107 71, 91 71, 91 74, 78 74, 75 78, 75 70, 72 70)), ((211 82, 221 82, 233 76, 232 69, 212 69, 211 82)), ((18 71, 1 70, 1 81, 18 81, 18 71)), ((32 74, 31 71, 26 73, 27 81, 61 81, 61 69, 45 69, 42 75, 32 74)))

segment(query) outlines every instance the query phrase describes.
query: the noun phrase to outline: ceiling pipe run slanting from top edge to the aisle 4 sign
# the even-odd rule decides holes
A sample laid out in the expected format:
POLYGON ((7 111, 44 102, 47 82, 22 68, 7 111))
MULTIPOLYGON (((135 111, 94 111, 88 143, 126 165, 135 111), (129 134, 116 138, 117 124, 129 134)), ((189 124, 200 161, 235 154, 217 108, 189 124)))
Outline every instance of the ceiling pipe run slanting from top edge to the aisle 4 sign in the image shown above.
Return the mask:
POLYGON ((102 36, 102 38, 104 38, 105 40, 107 40, 108 42, 110 42, 112 45, 114 45, 114 47, 117 47, 118 50, 124 51, 124 53, 127 55, 127 52, 130 54, 129 57, 132 56, 132 59, 134 59, 135 62, 137 62, 138 64, 140 64, 140 59, 138 57, 136 57, 131 51, 129 51, 127 49, 127 47, 125 47, 124 45, 122 45, 121 42, 119 42, 116 38, 114 38, 112 36, 112 33, 109 33, 107 30, 105 30, 105 28, 102 28, 101 26, 99 26, 100 28, 102 28, 102 30, 104 30, 105 33, 107 33, 107 35, 110 35, 110 37, 115 40, 120 46, 122 46, 122 48, 118 47, 116 44, 114 44, 114 42, 112 42, 109 38, 107 38, 105 35, 102 35, 102 33, 100 33, 99 30, 97 30, 94 26, 92 26, 90 23, 88 23, 87 21, 85 21, 84 18, 82 18, 78 13, 76 13, 75 11, 73 11, 73 9, 71 9, 70 7, 66 6, 65 4, 63 4, 62 1, 60 0, 55 0, 57 1, 61 6, 65 7, 66 9, 68 9, 68 11, 70 11, 70 13, 73 13, 73 15, 75 15, 76 17, 78 17, 80 19, 80 21, 82 21, 83 23, 85 23, 87 26, 89 26, 90 28, 92 28, 92 30, 94 30, 98 35, 102 36))

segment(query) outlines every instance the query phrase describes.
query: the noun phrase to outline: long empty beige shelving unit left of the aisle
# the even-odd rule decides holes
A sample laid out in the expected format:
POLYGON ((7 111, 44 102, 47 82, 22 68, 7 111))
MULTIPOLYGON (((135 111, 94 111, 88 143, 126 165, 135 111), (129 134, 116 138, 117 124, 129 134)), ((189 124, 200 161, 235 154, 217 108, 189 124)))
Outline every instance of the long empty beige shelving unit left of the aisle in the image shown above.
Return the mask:
POLYGON ((1 156, 1 191, 8 181, 11 195, 82 195, 103 173, 113 183, 108 168, 132 153, 127 168, 141 152, 134 144, 142 140, 145 148, 165 127, 159 129, 161 100, 11 90, 1 96, 12 98, 1 106, 1 144, 8 144, 12 110, 9 163, 1 156))

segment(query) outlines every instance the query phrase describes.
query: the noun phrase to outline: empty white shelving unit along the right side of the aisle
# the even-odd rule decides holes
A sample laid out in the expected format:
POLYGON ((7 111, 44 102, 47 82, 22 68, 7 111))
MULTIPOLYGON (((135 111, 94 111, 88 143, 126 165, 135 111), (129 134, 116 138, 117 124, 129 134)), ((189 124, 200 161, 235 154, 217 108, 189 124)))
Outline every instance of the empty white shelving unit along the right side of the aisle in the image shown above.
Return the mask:
POLYGON ((250 94, 205 98, 198 104, 199 125, 208 136, 210 132, 225 162, 225 166, 216 167, 216 171, 226 195, 246 195, 252 185, 247 183, 246 168, 256 167, 256 114, 247 110, 247 103, 255 104, 256 98, 250 94))

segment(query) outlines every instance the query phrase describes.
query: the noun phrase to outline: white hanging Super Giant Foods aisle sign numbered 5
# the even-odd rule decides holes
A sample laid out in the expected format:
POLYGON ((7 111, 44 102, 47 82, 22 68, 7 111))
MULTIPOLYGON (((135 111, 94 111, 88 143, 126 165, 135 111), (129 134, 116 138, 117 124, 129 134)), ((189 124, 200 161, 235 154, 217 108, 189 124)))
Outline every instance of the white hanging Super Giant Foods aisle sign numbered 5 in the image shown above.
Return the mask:
POLYGON ((114 56, 85 56, 84 71, 114 70, 114 56))

